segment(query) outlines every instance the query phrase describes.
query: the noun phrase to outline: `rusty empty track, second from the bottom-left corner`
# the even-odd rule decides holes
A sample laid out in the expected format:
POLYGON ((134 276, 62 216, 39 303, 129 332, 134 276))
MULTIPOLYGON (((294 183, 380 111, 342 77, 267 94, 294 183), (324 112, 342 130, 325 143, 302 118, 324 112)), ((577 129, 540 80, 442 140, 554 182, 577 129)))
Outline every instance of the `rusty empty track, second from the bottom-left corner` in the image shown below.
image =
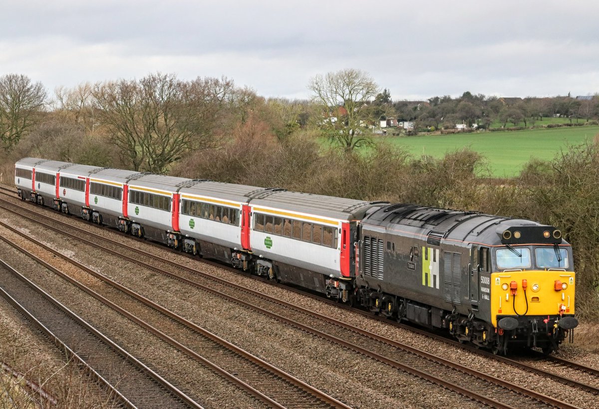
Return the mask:
MULTIPOLYGON (((7 227, 4 223, 0 225, 7 227)), ((3 239, 5 240, 5 239, 3 239)), ((31 238, 29 239, 31 240, 31 238)), ((7 241, 7 240, 5 240, 7 241)), ((20 252, 31 257, 38 263, 58 274, 61 278, 78 287, 83 292, 92 295, 119 311, 124 316, 143 326, 147 331, 168 342, 171 346, 186 353, 193 359, 198 360, 208 368, 213 369, 222 377, 235 383, 240 389, 255 396, 268 407, 335 407, 347 408, 342 402, 337 401, 326 393, 303 383, 292 375, 269 365, 244 350, 235 347, 222 338, 205 331, 201 327, 178 316, 172 311, 161 307, 161 305, 138 295, 128 288, 96 273, 80 263, 60 255, 43 243, 32 241, 39 247, 62 256, 66 261, 93 275, 104 283, 104 286, 95 285, 95 290, 90 289, 81 282, 72 278, 71 275, 60 271, 40 257, 33 255, 28 250, 16 244, 11 244, 20 252), (117 289, 118 291, 114 291, 117 289), (102 295, 101 293, 104 293, 102 295), (110 297, 110 299, 108 298, 110 297), (126 305, 125 308, 120 305, 126 305), (132 311, 132 312, 131 312, 132 311), (177 340, 174 339, 177 338, 177 340), (201 352, 201 355, 198 353, 201 352), (235 373, 235 375, 232 375, 235 373), (253 384, 253 386, 252 386, 253 384), (258 389, 268 393, 260 392, 258 389)), ((7 243, 9 243, 7 241, 7 243)))

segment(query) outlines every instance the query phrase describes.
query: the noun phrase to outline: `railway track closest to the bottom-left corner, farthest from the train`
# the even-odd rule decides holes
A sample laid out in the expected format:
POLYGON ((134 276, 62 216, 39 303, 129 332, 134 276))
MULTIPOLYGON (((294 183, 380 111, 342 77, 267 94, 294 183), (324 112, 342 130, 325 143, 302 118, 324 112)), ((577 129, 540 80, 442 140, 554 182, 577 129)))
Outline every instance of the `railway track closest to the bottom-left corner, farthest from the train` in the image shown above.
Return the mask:
POLYGON ((4 260, 0 260, 0 282, 0 295, 21 316, 127 407, 201 407, 4 260))

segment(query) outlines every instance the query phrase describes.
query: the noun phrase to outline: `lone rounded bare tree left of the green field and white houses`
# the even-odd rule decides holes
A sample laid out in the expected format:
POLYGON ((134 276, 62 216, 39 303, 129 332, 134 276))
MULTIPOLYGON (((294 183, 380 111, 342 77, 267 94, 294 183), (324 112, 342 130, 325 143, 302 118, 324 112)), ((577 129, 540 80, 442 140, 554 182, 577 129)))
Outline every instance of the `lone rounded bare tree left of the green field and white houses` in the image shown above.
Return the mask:
POLYGON ((322 128, 327 137, 346 150, 368 143, 365 132, 374 118, 370 104, 379 93, 373 78, 360 69, 343 69, 316 75, 308 83, 313 101, 323 110, 322 128))

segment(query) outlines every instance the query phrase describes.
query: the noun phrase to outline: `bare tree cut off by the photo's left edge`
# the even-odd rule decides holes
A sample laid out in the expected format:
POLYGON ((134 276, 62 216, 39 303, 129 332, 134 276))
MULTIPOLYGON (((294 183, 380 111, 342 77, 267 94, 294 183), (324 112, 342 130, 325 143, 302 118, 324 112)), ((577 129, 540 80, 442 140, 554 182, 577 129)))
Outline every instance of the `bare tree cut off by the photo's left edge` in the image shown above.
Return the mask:
POLYGON ((22 74, 0 77, 0 138, 11 150, 35 125, 44 107, 46 90, 22 74))

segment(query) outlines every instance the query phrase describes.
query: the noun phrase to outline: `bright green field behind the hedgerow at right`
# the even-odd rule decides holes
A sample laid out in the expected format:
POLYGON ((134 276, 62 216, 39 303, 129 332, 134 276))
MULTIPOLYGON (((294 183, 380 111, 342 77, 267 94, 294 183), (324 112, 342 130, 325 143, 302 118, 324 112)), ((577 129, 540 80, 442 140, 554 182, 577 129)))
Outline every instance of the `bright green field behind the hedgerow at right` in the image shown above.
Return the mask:
POLYGON ((592 141, 599 126, 526 129, 524 131, 480 132, 473 134, 386 137, 385 140, 406 148, 415 156, 442 157, 447 152, 467 147, 489 161, 495 177, 513 177, 531 158, 550 160, 562 148, 592 141))

